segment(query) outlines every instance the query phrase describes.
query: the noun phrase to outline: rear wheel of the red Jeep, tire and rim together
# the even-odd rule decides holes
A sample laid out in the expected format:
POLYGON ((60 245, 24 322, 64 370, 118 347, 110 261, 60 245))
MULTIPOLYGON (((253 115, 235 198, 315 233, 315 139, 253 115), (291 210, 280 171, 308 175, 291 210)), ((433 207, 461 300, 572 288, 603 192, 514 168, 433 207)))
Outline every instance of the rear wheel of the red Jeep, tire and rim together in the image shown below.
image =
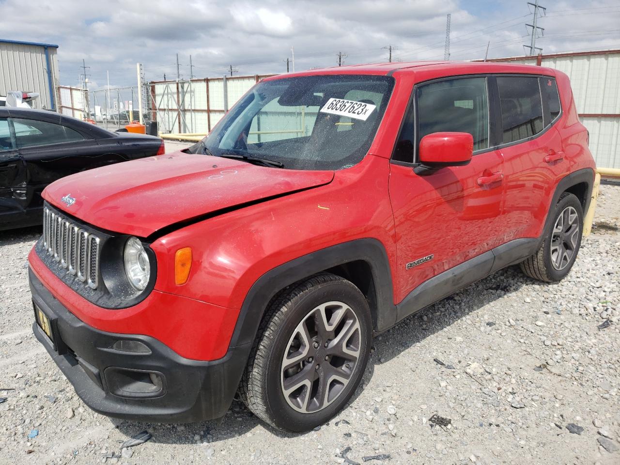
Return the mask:
POLYGON ((547 283, 560 281, 569 274, 577 259, 583 232, 582 205, 572 193, 560 195, 552 215, 541 246, 534 255, 521 262, 523 273, 547 283))

